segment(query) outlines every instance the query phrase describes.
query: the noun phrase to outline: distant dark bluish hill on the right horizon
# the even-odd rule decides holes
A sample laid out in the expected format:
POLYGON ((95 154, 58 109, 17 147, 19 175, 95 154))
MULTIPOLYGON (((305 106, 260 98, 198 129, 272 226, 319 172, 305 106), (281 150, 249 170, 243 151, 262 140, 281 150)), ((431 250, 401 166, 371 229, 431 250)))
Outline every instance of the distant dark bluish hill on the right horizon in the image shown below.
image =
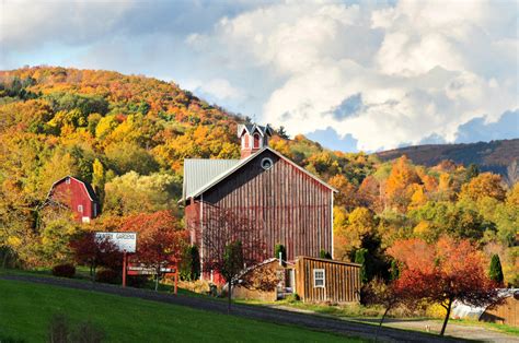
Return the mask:
POLYGON ((435 166, 441 161, 450 159, 464 166, 476 164, 482 170, 508 176, 511 172, 509 167, 514 162, 519 162, 519 139, 488 143, 406 146, 380 152, 377 155, 383 161, 406 155, 413 163, 425 166, 435 166))

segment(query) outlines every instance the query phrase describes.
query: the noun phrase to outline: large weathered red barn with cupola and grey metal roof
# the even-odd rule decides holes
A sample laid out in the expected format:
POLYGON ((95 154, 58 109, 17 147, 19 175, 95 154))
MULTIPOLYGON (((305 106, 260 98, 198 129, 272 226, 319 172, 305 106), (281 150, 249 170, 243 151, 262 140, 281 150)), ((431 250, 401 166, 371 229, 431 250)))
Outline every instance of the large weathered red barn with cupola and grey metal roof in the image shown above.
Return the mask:
MULTIPOLYGON (((336 190, 268 146, 268 126, 241 125, 241 159, 185 159, 183 201, 192 244, 207 256, 203 235, 211 232, 215 209, 245 216, 274 257, 284 245, 288 261, 333 256, 333 198, 336 190)), ((209 271, 203 271, 208 277, 209 271)))

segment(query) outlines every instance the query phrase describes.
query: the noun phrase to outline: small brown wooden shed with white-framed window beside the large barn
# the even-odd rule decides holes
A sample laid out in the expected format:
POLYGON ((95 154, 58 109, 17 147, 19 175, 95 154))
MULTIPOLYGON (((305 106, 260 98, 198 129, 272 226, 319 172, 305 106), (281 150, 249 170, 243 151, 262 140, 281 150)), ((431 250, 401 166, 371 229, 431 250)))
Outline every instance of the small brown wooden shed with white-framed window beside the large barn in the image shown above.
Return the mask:
POLYGON ((296 293, 308 303, 358 303, 360 267, 312 257, 296 259, 296 293))

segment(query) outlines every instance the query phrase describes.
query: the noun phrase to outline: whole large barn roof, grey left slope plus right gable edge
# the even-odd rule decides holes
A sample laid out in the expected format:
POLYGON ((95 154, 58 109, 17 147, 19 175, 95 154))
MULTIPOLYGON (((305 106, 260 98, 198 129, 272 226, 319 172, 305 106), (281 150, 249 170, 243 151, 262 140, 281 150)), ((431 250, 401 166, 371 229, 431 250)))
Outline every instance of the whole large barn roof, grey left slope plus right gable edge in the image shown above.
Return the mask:
POLYGON ((324 182, 316 176, 312 175, 307 169, 302 168, 301 166, 297 165, 292 161, 288 159, 277 151, 265 146, 264 149, 257 151, 256 153, 250 155, 243 159, 185 159, 184 161, 184 191, 183 191, 183 199, 186 200, 188 198, 195 198, 207 191, 208 189, 215 187, 217 184, 222 181, 232 173, 237 172, 244 165, 246 165, 250 161, 254 159, 257 155, 262 154, 264 151, 270 151, 279 158, 285 159, 302 173, 310 176, 312 179, 316 180, 324 187, 331 189, 334 192, 337 192, 335 188, 330 186, 328 184, 324 182), (193 161, 196 161, 193 163, 193 161), (216 163, 217 161, 223 161, 221 165, 216 163), (204 164, 204 162, 206 164, 204 164), (227 169, 224 168, 224 164, 228 165, 227 169), (186 168, 187 165, 187 168, 186 168), (194 180, 192 180, 194 179, 194 180))

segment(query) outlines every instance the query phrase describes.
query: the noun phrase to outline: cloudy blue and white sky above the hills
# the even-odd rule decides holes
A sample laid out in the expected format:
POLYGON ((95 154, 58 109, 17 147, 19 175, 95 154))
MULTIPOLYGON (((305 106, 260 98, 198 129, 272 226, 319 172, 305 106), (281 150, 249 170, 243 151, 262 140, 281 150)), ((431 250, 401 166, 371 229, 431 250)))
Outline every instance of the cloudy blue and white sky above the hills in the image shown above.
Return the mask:
POLYGON ((519 137, 517 1, 0 0, 0 69, 175 81, 323 145, 519 137))

